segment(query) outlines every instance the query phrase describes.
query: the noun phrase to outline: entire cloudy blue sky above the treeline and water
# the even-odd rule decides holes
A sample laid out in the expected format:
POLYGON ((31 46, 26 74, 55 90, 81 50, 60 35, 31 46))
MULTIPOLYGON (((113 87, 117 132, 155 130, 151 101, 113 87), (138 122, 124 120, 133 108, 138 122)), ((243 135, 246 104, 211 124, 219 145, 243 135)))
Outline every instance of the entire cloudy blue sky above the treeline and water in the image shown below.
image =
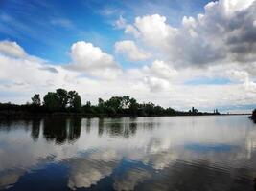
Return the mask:
POLYGON ((163 107, 256 108, 254 0, 0 0, 0 102, 76 90, 163 107))

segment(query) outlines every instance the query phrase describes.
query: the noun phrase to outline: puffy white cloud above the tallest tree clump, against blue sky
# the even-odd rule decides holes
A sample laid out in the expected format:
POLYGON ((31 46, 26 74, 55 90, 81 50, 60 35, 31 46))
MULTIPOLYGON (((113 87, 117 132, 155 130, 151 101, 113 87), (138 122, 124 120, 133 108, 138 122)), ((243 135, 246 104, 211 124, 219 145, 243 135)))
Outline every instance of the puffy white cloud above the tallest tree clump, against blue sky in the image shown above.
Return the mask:
POLYGON ((79 41, 71 47, 73 63, 67 69, 85 72, 92 76, 113 79, 122 71, 113 56, 104 53, 99 47, 91 43, 79 41))

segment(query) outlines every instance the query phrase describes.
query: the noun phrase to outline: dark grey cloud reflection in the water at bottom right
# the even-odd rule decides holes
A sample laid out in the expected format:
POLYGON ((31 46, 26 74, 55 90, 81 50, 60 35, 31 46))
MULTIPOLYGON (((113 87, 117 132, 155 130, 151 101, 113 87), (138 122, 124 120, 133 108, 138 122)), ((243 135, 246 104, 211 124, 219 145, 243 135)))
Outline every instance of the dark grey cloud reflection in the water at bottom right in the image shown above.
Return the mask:
POLYGON ((142 183, 139 190, 252 190, 252 172, 244 167, 221 168, 207 160, 177 160, 161 173, 154 174, 151 183, 142 183))

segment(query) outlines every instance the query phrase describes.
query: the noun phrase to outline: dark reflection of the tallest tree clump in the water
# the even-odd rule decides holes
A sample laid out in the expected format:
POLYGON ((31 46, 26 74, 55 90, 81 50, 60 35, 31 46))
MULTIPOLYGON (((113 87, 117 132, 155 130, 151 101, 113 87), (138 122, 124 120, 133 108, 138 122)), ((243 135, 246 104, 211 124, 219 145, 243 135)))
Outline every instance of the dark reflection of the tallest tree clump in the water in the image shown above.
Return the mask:
POLYGON ((43 136, 47 140, 62 144, 80 138, 81 118, 46 118, 43 120, 43 136))

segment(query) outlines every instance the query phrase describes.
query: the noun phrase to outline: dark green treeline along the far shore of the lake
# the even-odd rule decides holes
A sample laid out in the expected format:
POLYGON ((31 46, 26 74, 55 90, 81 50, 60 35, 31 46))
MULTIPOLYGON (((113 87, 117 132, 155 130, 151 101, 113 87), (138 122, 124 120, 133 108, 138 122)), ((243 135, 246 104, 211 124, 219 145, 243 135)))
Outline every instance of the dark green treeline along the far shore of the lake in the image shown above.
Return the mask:
POLYGON ((130 96, 113 96, 108 100, 99 98, 98 104, 92 105, 87 101, 81 104, 81 96, 76 91, 57 89, 49 92, 41 99, 35 94, 32 102, 24 105, 0 103, 0 117, 31 117, 47 115, 77 115, 81 117, 154 117, 154 116, 189 116, 189 115, 217 115, 214 113, 201 113, 194 107, 188 112, 163 108, 149 103, 138 103, 130 96))

